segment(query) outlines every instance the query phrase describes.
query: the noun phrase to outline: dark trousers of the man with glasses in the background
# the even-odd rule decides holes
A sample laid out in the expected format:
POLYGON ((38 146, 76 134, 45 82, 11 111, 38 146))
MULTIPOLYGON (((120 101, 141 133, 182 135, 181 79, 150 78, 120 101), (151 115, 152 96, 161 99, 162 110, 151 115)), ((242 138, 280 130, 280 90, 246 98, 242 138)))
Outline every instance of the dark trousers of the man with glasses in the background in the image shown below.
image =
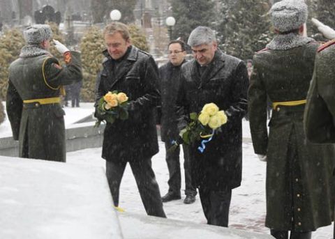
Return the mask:
MULTIPOLYGON (((170 142, 165 142, 165 160, 168 164, 169 170, 169 192, 173 194, 180 194, 181 188, 181 172, 180 172, 180 161, 179 153, 180 148, 177 148, 173 152, 168 152, 168 149, 172 146, 170 142)), ((195 196, 197 190, 192 184, 191 179, 191 165, 190 165, 190 151, 188 146, 183 146, 184 151, 184 171, 185 171, 185 194, 190 196, 195 196)))

